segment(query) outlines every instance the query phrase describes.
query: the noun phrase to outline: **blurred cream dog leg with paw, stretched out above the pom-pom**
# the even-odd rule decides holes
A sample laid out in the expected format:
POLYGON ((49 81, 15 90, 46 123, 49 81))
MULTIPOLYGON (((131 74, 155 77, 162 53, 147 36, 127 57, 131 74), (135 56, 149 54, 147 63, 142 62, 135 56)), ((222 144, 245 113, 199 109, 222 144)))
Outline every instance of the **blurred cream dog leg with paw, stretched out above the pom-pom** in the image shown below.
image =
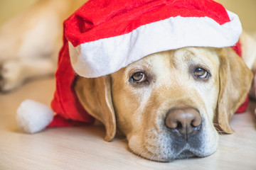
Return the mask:
POLYGON ((6 60, 0 65, 0 89, 10 91, 28 79, 53 75, 54 72, 55 62, 50 58, 6 60))

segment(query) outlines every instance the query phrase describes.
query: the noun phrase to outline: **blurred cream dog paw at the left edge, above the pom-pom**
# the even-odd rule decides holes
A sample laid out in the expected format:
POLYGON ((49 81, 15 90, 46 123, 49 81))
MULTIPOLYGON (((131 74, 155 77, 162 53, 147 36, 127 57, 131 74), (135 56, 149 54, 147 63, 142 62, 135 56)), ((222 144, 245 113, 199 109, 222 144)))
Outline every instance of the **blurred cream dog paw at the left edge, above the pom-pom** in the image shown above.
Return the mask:
POLYGON ((21 64, 18 61, 6 61, 0 64, 1 91, 11 91, 22 83, 21 64))

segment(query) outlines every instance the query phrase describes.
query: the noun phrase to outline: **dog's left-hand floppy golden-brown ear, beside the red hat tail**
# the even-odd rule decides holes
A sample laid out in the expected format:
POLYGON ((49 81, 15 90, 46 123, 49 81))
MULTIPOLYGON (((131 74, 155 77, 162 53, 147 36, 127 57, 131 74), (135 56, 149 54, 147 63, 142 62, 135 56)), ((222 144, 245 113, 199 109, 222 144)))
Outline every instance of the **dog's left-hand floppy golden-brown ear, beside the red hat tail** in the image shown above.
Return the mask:
POLYGON ((116 119, 110 76, 93 79, 78 77, 75 81, 75 92, 85 110, 105 125, 105 140, 112 140, 116 134, 116 119))

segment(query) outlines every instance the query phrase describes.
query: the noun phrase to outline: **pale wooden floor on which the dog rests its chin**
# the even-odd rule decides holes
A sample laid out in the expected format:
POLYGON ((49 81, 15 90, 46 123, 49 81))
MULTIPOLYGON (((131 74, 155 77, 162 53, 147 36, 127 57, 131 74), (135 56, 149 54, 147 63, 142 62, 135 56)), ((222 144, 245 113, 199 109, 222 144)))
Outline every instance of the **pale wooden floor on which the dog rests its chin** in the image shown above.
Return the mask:
POLYGON ((250 103, 247 113, 235 115, 233 135, 220 135, 218 151, 210 157, 151 162, 129 152, 127 141, 105 142, 104 128, 52 128, 34 135, 19 132, 16 109, 26 98, 50 104, 53 78, 27 83, 11 94, 0 94, 0 169, 256 169, 256 128, 250 103))

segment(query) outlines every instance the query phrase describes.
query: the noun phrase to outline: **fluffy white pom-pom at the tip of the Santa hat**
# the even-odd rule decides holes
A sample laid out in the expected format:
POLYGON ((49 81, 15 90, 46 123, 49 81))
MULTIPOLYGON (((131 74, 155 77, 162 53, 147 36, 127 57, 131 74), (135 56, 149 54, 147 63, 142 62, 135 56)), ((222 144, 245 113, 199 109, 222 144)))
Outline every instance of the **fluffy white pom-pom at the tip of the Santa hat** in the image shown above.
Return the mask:
POLYGON ((17 110, 18 127, 28 133, 39 132, 53 120, 54 113, 46 105, 26 100, 17 110))

